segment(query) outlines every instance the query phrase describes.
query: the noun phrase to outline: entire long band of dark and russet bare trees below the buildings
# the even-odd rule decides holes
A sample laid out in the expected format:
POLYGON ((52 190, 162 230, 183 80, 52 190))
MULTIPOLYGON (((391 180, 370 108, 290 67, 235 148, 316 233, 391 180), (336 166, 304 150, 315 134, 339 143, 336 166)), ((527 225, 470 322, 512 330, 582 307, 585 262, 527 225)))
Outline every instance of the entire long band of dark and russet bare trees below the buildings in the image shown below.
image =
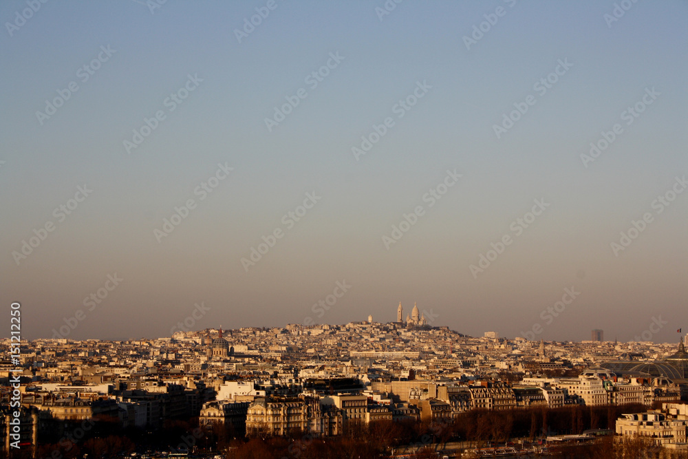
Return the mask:
MULTIPOLYGON (((643 405, 585 407, 575 405, 557 409, 535 407, 503 412, 472 410, 453 419, 433 423, 380 421, 365 425, 348 423, 342 436, 312 438, 293 431, 286 438, 244 438, 230 426, 200 427, 198 419, 168 420, 163 429, 146 431, 122 428, 105 420, 96 423, 76 442, 65 438, 43 438, 38 458, 108 458, 145 449, 175 451, 195 447, 200 451, 231 451, 232 458, 345 458, 384 457, 391 449, 414 445, 431 448, 447 442, 506 442, 510 438, 535 439, 554 434, 581 434, 586 429, 614 430, 622 413, 644 412, 643 405), (57 453, 55 452, 57 451, 57 453)), ((68 430, 68 427, 67 427, 68 430)), ((599 442, 603 445, 603 442, 599 442)), ((600 447, 596 445, 596 447, 600 447)), ((580 448, 579 448, 580 449, 580 448)), ((582 451, 582 450, 581 450, 582 451)), ((592 451, 592 450, 591 450, 592 451)), ((592 452, 591 452, 592 453, 592 452)), ((19 457, 19 456, 17 456, 19 457)), ((592 457, 592 456, 591 456, 592 457)), ((606 456, 614 457, 614 456, 606 456)))

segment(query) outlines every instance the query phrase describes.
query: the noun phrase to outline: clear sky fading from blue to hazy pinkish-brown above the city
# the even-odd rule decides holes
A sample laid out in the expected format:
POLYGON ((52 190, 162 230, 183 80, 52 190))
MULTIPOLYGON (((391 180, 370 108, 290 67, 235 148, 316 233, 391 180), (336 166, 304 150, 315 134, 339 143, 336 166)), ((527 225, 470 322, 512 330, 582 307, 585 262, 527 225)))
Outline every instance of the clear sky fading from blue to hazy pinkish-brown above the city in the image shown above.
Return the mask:
POLYGON ((400 301, 472 336, 688 330, 685 1, 0 18, 0 303, 23 337, 389 322, 400 301))

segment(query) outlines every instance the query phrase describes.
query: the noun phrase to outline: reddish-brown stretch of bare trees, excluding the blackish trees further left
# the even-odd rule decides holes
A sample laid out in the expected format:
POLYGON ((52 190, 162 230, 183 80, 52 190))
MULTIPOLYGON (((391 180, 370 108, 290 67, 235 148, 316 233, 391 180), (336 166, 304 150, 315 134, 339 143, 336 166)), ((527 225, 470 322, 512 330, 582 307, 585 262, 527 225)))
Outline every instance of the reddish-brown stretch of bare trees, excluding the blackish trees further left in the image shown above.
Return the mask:
MULTIPOLYGON (((411 445, 418 457, 436 458, 436 449, 448 442, 506 442, 510 438, 535 439, 554 434, 582 434, 587 429, 611 429, 623 412, 644 412, 643 405, 585 407, 576 405, 557 409, 537 407, 504 412, 473 410, 451 420, 434 423, 377 423, 349 424, 341 437, 310 438, 294 431, 288 438, 252 438, 230 443, 231 456, 237 459, 252 458, 375 458, 388 457, 389 451, 411 445)), ((604 440, 611 442, 612 439, 604 440)), ((571 451, 561 451, 569 457, 592 454, 590 457, 614 458, 622 456, 596 456, 607 451, 604 441, 571 451), (588 449, 590 451, 588 451, 588 449)))

